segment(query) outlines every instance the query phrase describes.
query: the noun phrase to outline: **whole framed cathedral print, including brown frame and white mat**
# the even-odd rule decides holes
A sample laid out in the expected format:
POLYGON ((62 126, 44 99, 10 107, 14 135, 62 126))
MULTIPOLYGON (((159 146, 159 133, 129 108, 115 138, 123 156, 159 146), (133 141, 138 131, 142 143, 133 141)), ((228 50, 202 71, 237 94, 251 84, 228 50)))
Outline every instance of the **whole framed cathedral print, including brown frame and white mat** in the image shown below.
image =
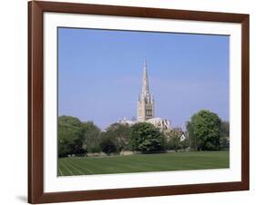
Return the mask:
POLYGON ((28 202, 249 190, 249 15, 28 3, 28 202))

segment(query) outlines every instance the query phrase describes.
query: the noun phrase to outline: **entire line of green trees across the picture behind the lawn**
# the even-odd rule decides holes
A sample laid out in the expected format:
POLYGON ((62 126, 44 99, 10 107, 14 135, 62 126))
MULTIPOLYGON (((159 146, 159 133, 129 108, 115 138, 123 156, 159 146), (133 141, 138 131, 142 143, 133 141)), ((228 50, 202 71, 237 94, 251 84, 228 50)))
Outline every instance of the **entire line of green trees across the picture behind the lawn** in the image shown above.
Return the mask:
POLYGON ((218 151, 229 149, 229 122, 216 113, 202 110, 187 122, 187 131, 160 131, 148 122, 133 125, 113 123, 101 131, 94 122, 72 116, 58 117, 58 156, 120 151, 142 153, 173 151, 218 151), (180 141, 181 134, 186 136, 180 141))

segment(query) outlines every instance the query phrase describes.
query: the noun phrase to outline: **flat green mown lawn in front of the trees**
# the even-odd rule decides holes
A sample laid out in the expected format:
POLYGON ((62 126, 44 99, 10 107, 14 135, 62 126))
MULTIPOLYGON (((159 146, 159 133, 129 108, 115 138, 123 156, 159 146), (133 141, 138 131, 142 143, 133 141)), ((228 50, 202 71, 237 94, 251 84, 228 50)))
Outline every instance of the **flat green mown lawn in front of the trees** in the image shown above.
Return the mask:
POLYGON ((229 168, 229 151, 136 154, 58 159, 58 176, 229 168))

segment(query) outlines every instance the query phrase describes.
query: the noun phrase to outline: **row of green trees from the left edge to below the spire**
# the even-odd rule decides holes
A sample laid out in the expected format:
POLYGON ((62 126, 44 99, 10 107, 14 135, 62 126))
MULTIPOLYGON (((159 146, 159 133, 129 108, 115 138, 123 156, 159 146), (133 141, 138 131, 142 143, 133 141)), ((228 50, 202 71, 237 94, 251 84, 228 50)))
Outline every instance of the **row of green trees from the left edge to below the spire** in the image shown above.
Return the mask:
POLYGON ((164 134, 147 122, 133 126, 114 123, 101 132, 93 122, 80 122, 70 116, 58 118, 59 157, 100 151, 163 151, 165 144, 164 134))

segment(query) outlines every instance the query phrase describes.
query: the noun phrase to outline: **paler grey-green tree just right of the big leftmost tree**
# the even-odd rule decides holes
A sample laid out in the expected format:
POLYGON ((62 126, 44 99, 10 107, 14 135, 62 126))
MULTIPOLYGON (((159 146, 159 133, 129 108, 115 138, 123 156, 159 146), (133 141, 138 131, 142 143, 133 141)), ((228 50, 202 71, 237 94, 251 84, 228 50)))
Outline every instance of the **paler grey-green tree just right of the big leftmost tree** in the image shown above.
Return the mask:
POLYGON ((87 152, 101 151, 99 146, 100 129, 94 124, 94 122, 83 122, 83 130, 84 130, 83 148, 87 152))

